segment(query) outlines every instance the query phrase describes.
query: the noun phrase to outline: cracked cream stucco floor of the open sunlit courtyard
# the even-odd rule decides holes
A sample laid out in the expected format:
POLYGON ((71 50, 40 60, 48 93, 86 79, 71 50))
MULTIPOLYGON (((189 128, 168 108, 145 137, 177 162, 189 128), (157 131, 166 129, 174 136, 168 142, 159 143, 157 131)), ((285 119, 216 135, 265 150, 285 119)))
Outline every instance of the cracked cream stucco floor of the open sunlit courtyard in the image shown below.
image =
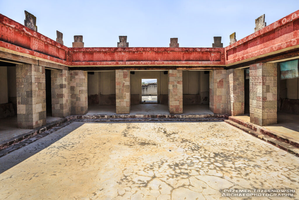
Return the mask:
POLYGON ((0 165, 0 199, 221 199, 226 188, 299 199, 299 158, 225 122, 74 122, 0 165))

